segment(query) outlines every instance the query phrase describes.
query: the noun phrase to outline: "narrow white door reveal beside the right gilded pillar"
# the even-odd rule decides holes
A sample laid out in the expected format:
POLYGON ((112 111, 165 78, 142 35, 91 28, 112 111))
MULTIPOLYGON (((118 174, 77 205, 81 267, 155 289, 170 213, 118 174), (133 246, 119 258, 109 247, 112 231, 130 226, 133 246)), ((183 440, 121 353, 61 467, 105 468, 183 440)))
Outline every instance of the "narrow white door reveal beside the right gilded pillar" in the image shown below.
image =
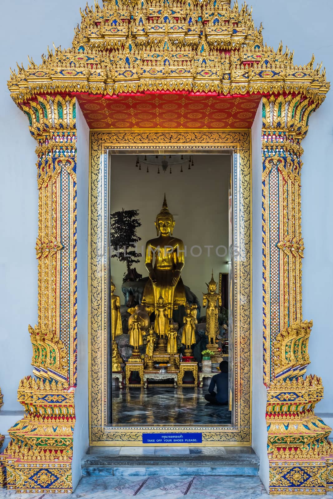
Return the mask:
POLYGON ((262 103, 251 129, 252 139, 252 447, 260 458, 260 478, 268 490, 266 401, 263 383, 262 291, 262 103))

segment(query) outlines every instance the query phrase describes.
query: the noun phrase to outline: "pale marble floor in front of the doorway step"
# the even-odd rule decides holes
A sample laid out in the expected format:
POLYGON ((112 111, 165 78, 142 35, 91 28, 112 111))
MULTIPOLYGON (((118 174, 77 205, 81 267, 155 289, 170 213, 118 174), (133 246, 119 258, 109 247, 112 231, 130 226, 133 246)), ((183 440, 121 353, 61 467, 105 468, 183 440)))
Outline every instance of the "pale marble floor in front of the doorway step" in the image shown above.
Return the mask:
MULTIPOLYGON (((269 499, 258 477, 84 477, 74 494, 15 494, 0 490, 0 499, 269 499)), ((333 494, 315 496, 333 499, 333 494)), ((274 496, 306 499, 309 496, 274 496)))

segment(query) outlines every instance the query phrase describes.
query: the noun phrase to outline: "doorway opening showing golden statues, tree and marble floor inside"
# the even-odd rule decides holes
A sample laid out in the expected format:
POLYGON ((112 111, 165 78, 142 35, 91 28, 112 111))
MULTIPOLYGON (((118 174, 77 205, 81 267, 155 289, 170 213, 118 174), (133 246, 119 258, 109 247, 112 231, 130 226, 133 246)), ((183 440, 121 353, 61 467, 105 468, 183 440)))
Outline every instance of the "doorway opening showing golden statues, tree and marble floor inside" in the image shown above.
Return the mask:
POLYGON ((109 161, 109 424, 230 425, 232 154, 152 151, 109 161), (212 404, 204 395, 220 365, 223 401, 212 404))

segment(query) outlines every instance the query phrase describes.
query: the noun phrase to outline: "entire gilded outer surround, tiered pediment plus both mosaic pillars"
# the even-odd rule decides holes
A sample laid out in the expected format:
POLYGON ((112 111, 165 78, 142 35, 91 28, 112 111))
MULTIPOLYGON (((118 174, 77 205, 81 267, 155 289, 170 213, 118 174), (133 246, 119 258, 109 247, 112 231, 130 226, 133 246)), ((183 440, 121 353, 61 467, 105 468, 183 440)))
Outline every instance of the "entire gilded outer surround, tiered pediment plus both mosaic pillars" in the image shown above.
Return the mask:
MULTIPOLYGON (((284 50, 282 43, 277 50, 264 44, 262 28, 255 28, 251 13, 247 5, 239 9, 237 1, 231 8, 230 0, 104 0, 103 7, 95 2, 95 8, 87 5, 81 10, 72 47, 54 46, 54 52, 48 49, 42 55, 41 64, 28 58, 27 68, 17 65, 17 72, 11 70, 8 88, 37 140, 38 324, 30 332, 34 374, 40 379, 24 378, 19 386, 28 425, 24 428, 24 419, 9 430, 11 442, 0 457, 0 479, 7 488, 41 493, 72 490, 77 356, 75 96, 161 91, 193 97, 198 93, 263 97, 267 425, 275 418, 283 420, 268 432, 270 492, 323 494, 333 488, 329 428, 312 412, 323 387, 317 377, 301 377, 309 364, 311 328, 302 316, 301 143, 329 83, 322 65, 314 67, 314 56, 298 66, 294 53, 284 50), (38 331, 45 331, 44 339, 37 337, 38 331), (300 405, 290 412, 293 400, 300 405), (37 434, 46 452, 37 444, 37 434), (58 438, 62 443, 55 450, 58 438)), ((208 438, 205 433, 203 438, 208 438)))

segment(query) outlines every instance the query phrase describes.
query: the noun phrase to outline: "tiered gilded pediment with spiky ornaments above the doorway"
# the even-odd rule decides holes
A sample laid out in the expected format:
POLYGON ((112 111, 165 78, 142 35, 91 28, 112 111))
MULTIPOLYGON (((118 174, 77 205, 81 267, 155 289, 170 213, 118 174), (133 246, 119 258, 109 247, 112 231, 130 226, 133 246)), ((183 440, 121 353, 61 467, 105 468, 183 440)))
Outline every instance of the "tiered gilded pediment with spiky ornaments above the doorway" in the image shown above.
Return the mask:
POLYGON ((47 48, 41 64, 28 58, 26 69, 11 70, 17 104, 47 94, 186 91, 303 94, 318 106, 329 90, 314 56, 298 66, 282 43, 264 44, 252 9, 237 1, 105 0, 81 16, 72 47, 47 48))

